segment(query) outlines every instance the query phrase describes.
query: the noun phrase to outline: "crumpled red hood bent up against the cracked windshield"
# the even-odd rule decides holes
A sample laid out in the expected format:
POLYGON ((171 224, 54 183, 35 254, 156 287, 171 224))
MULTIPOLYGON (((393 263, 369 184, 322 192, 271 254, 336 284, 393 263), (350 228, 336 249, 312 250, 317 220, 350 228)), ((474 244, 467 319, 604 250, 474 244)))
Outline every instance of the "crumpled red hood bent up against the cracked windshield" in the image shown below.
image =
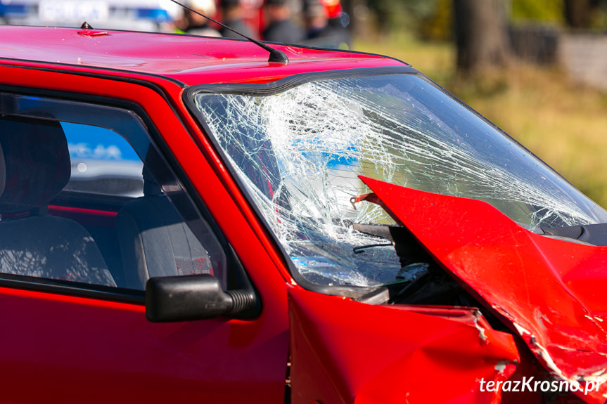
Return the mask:
POLYGON ((598 382, 607 398, 607 247, 525 230, 486 202, 361 177, 468 292, 523 338, 557 379, 598 382))

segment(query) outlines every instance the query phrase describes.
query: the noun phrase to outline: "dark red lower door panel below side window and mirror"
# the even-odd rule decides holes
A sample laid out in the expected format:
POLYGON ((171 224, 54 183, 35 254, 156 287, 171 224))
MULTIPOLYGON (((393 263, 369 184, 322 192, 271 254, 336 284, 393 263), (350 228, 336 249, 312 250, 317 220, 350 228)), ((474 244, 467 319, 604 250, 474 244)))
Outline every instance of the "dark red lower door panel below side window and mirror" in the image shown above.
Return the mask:
POLYGON ((134 304, 6 288, 0 301, 11 308, 0 322, 12 325, 0 337, 11 347, 0 354, 3 400, 283 399, 286 339, 269 337, 279 322, 266 314, 255 321, 154 324, 134 304))

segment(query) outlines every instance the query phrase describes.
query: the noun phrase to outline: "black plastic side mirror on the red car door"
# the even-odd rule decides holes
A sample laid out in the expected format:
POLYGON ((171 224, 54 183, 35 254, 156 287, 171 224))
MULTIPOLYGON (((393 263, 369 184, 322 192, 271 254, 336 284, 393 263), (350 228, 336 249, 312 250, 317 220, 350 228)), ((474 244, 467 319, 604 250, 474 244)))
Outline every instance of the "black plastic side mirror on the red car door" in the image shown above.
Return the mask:
POLYGON ((146 284, 146 318, 151 322, 205 320, 238 315, 257 306, 253 290, 224 292, 212 275, 150 278, 146 284))

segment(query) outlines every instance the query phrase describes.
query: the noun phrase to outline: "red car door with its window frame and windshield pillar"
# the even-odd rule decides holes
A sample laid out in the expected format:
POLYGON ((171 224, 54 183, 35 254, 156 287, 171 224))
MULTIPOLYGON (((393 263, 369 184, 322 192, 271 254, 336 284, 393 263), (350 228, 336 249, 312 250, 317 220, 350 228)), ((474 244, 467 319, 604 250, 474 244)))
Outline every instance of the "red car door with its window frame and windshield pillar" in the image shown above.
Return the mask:
POLYGON ((199 147, 207 144, 203 134, 183 110, 176 112, 182 105, 181 86, 152 79, 156 88, 120 77, 0 66, 0 84, 141 105, 160 133, 170 133, 163 140, 247 268, 263 311, 253 320, 154 324, 139 304, 1 288, 3 306, 12 309, 0 313, 0 322, 15 325, 0 336, 2 346, 11 346, 0 351, 3 398, 65 403, 283 401, 288 271, 212 148, 199 147), (100 385, 107 388, 100 391, 100 385))

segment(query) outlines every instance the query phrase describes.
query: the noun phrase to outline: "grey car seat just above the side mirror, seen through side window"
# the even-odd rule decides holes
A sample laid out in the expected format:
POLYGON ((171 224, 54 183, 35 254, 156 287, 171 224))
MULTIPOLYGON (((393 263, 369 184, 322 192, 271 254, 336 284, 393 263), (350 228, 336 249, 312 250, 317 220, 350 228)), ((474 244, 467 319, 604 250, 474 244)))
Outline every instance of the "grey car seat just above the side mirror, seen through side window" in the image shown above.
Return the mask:
POLYGON ((143 196, 120 209, 116 230, 127 287, 145 289, 147 280, 157 276, 216 275, 209 252, 162 195, 146 165, 143 196))

